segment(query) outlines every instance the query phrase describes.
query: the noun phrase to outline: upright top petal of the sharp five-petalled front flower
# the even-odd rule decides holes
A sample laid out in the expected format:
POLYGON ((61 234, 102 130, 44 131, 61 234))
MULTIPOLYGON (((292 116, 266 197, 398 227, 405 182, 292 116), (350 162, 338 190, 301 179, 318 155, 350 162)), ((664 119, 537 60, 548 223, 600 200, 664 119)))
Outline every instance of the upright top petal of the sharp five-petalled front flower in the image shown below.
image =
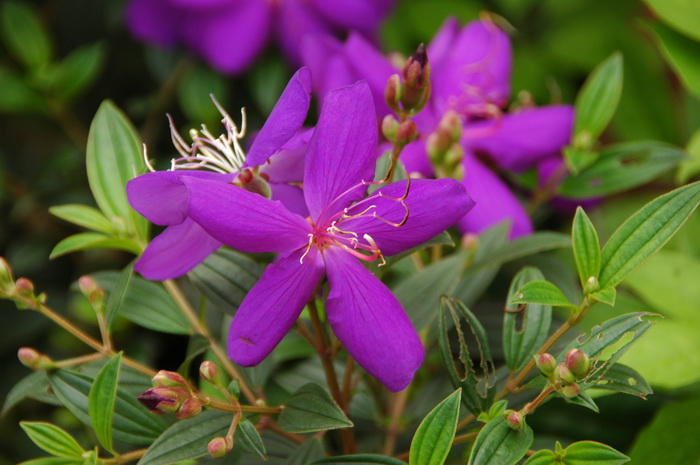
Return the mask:
MULTIPOLYGON (((312 217, 320 216, 336 198, 342 209, 366 191, 372 181, 377 150, 377 120, 366 82, 335 89, 326 95, 309 143, 304 171, 304 196, 312 217), (351 190, 350 192, 348 192, 351 190)), ((327 214, 336 213, 329 211, 327 214)))

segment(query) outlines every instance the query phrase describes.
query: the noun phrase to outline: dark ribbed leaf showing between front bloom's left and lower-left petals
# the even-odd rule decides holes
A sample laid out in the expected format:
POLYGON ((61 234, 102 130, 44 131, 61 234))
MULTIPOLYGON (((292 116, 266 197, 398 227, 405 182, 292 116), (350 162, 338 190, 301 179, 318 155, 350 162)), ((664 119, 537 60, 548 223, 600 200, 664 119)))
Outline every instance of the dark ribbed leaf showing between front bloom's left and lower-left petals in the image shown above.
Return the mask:
POLYGON ((248 256, 222 247, 187 276, 215 305, 233 314, 262 272, 263 267, 248 256))

